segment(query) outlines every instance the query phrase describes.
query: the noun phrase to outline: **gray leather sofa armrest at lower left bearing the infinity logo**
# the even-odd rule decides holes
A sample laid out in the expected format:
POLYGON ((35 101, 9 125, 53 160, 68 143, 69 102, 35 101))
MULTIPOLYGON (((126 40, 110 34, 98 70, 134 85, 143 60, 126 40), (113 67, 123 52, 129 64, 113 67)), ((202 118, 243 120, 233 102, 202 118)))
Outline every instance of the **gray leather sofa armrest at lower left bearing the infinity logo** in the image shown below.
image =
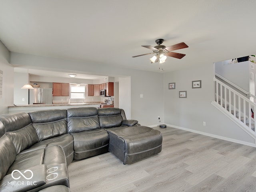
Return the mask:
POLYGON ((13 170, 0 183, 1 192, 26 192, 46 183, 46 165, 41 164, 26 170, 13 170), (24 176, 23 176, 23 175, 24 176))

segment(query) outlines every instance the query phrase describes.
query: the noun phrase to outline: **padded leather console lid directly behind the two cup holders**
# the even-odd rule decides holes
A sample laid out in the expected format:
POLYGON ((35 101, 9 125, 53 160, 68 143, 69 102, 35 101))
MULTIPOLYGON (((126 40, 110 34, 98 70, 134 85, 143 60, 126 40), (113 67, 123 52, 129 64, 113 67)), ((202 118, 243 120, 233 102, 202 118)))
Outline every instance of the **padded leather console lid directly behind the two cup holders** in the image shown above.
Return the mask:
POLYGON ((44 164, 66 164, 66 157, 64 151, 59 146, 49 146, 45 148, 44 164))

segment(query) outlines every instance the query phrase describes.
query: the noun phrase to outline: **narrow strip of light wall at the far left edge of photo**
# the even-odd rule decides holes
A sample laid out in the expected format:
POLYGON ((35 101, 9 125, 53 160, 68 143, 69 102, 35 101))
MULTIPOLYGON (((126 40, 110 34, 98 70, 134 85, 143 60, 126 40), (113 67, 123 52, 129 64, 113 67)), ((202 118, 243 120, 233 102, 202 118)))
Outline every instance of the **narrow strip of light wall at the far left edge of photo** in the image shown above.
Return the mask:
POLYGON ((14 69, 9 64, 10 52, 0 41, 0 70, 3 71, 2 97, 0 97, 0 114, 8 113, 8 107, 13 105, 14 69))

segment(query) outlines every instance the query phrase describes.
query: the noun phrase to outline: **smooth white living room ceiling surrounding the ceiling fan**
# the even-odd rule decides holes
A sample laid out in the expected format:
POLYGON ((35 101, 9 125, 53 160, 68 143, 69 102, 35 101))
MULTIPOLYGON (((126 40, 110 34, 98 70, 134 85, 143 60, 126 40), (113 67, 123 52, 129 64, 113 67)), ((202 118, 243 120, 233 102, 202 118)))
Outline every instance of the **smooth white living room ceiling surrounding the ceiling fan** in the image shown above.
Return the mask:
POLYGON ((164 72, 256 52, 255 0, 0 0, 11 52, 158 71, 141 45, 185 42, 164 72))

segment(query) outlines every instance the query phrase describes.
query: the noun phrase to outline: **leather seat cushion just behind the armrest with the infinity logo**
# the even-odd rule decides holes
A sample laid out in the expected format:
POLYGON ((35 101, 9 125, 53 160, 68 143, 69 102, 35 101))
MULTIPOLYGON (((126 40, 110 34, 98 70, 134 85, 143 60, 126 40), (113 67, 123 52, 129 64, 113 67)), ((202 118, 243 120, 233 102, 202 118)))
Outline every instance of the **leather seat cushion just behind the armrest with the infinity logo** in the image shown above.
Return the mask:
POLYGON ((15 161, 10 166, 7 174, 12 173, 13 170, 28 169, 32 166, 43 164, 44 162, 44 149, 33 151, 24 151, 16 156, 15 161))

